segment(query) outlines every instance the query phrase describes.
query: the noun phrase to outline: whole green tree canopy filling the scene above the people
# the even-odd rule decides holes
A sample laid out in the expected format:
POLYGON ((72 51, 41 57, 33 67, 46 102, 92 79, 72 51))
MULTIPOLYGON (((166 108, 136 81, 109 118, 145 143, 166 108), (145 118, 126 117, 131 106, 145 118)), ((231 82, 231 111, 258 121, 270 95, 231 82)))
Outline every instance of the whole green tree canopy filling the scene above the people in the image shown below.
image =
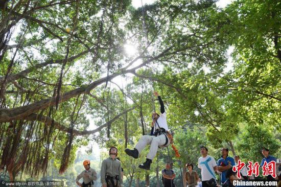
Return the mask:
POLYGON ((281 3, 215 3, 1 1, 0 168, 39 177, 53 160, 63 173, 94 139, 130 161, 130 185, 159 177, 167 153, 145 173, 123 152, 150 132, 153 90, 181 167, 202 144, 214 157, 223 146, 254 161, 261 147, 281 153, 281 3))

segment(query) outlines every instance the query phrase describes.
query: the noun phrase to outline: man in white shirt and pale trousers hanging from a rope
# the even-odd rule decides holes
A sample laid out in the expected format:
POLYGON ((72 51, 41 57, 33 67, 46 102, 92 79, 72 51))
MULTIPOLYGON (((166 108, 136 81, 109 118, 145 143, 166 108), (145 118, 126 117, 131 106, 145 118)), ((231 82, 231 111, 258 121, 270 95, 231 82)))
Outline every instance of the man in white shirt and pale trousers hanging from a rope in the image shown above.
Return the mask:
MULTIPOLYGON (((150 164, 157 153, 158 147, 159 148, 168 147, 171 143, 173 143, 173 137, 168 131, 164 103, 157 91, 154 91, 154 95, 158 97, 161 114, 159 115, 158 113, 155 112, 152 113, 152 123, 151 123, 152 128, 151 128, 150 135, 143 135, 142 137, 140 137, 138 143, 136 144, 133 150, 125 149, 125 152, 129 156, 132 156, 133 158, 138 158, 140 152, 143 151, 146 145, 150 144, 150 150, 149 153, 147 154, 146 162, 138 166, 139 168, 145 170, 150 169, 150 164)), ((178 155, 178 153, 176 154, 178 155)))

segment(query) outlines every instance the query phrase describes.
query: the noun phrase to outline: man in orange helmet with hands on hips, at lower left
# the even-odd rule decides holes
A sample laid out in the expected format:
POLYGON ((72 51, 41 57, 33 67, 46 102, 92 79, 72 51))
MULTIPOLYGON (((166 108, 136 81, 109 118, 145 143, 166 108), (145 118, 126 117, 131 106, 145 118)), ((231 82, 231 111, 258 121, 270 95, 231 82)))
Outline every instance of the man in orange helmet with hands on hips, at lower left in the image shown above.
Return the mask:
POLYGON ((85 160, 83 165, 85 170, 77 176, 76 183, 82 187, 93 187, 93 181, 97 180, 97 172, 90 168, 90 160, 85 160), (79 182, 81 178, 83 178, 83 183, 79 182))

